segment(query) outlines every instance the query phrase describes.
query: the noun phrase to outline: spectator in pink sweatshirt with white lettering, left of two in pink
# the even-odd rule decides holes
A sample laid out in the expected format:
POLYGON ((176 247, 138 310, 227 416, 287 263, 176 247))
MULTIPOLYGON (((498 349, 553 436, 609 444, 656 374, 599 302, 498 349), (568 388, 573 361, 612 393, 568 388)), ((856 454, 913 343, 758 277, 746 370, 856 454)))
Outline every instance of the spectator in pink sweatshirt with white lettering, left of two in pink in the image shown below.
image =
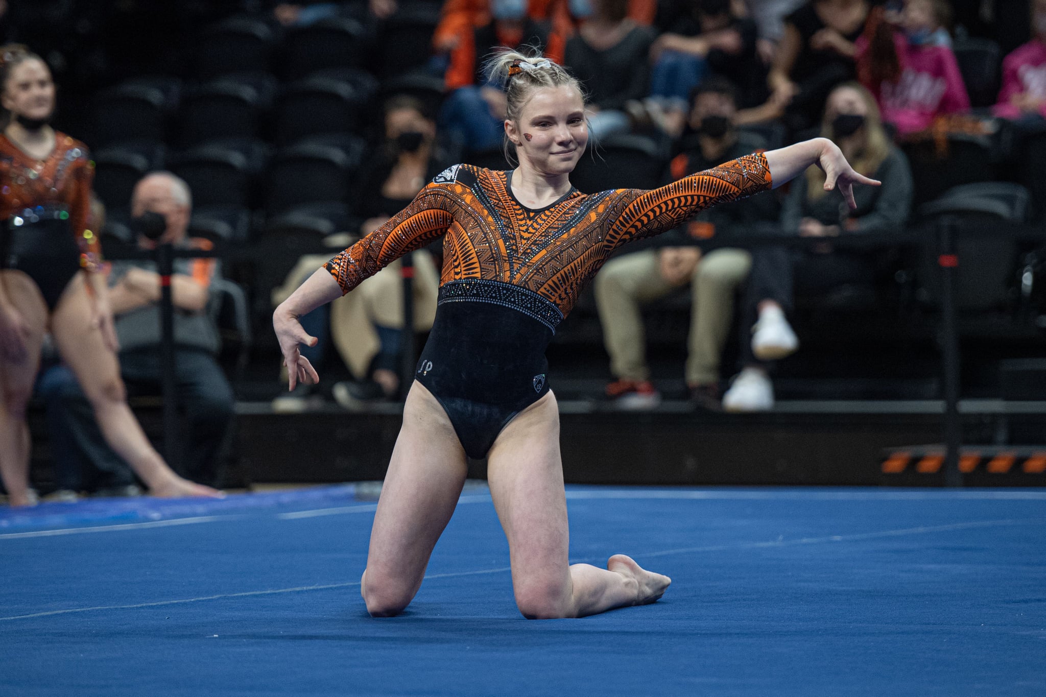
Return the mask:
POLYGON ((941 31, 947 37, 949 11, 945 0, 908 0, 897 30, 884 31, 873 22, 870 38, 858 41, 861 79, 899 137, 970 110, 959 64, 940 38, 941 31))

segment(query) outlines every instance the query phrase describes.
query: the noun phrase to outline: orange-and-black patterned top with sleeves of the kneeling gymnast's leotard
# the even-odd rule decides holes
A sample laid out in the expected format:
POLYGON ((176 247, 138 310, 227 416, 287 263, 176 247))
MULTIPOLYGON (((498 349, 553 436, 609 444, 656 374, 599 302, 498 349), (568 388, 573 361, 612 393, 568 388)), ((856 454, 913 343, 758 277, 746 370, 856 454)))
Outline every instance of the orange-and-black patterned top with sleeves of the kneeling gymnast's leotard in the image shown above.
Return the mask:
POLYGON ((611 253, 670 230, 710 206, 769 189, 761 154, 644 191, 584 194, 571 189, 542 209, 522 206, 510 172, 455 165, 384 226, 332 259, 326 269, 348 293, 410 250, 444 236, 440 285, 468 279, 526 288, 566 316, 611 253))

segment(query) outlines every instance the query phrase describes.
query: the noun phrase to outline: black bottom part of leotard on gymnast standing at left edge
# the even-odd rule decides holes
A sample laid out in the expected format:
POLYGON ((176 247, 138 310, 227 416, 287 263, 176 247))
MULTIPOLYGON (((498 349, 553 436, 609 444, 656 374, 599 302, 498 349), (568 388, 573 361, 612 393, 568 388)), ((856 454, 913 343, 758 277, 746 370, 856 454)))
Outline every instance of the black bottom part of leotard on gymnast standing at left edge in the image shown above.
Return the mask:
POLYGON ((48 310, 54 309, 81 270, 79 248, 68 217, 64 210, 29 208, 5 220, 0 231, 0 268, 27 274, 43 294, 48 310))

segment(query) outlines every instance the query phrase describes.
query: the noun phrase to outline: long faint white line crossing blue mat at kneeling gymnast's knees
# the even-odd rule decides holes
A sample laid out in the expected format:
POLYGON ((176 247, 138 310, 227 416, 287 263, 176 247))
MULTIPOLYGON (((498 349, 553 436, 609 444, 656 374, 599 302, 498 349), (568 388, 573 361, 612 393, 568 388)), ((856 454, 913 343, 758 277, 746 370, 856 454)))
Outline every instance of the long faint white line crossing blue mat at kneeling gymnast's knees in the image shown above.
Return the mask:
MULTIPOLYGON (((820 544, 824 542, 848 542, 867 539, 880 539, 887 537, 901 537, 905 535, 924 535, 935 532, 949 532, 952 530, 970 530, 976 528, 995 528, 1001 526, 1017 525, 1046 525, 1046 519, 1024 518, 1024 519, 1000 519, 1000 520, 978 520, 974 522, 956 522, 943 526, 923 526, 918 528, 901 528, 897 530, 883 530, 871 533, 855 533, 852 535, 826 535, 823 537, 801 537, 798 539, 777 539, 761 542, 741 542, 736 544, 717 544, 706 547, 679 548, 675 550, 661 550, 657 552, 646 552, 636 556, 644 559, 646 557, 665 557, 674 554, 697 554, 702 552, 724 552, 727 550, 753 550, 766 548, 797 547, 800 544, 820 544)), ((570 563, 584 561, 602 561, 604 557, 585 557, 572 559, 570 563)), ((501 574, 511 571, 510 566, 498 566, 496 568, 480 568, 472 572, 452 572, 449 574, 429 574, 425 580, 442 578, 455 578, 460 576, 480 576, 484 574, 501 574)), ((71 607, 63 610, 47 610, 45 612, 32 612, 29 614, 13 614, 0 617, 0 622, 12 620, 30 620, 33 618, 52 617, 55 614, 73 614, 77 612, 90 612, 93 610, 130 610, 141 607, 162 607, 164 605, 184 605, 186 603, 198 603, 206 600, 224 600, 227 598, 250 598, 254 596, 274 596, 286 593, 302 593, 306 590, 329 590, 333 588, 351 588, 360 585, 359 581, 347 581, 344 583, 326 583, 323 585, 303 585, 292 588, 274 588, 270 590, 247 590, 244 593, 228 593, 214 596, 201 596, 200 598, 183 598, 179 600, 161 600, 153 603, 134 603, 131 605, 95 605, 92 607, 71 607)))

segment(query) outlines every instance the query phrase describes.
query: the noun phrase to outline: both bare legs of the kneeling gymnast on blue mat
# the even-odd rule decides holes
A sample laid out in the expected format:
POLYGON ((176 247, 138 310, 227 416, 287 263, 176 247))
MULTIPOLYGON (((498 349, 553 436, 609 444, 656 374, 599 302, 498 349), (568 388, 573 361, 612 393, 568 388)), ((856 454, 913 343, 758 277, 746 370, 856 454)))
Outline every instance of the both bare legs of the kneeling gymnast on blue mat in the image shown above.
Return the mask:
MULTIPOLYGON (((578 618, 654 602, 672 581, 624 555, 611 557, 606 570, 570 565, 559 439, 559 411, 549 393, 509 423, 487 460, 520 611, 528 619, 578 618)), ((450 419, 415 382, 370 533, 361 583, 370 614, 397 614, 414 598, 457 506, 467 469, 450 419)))

